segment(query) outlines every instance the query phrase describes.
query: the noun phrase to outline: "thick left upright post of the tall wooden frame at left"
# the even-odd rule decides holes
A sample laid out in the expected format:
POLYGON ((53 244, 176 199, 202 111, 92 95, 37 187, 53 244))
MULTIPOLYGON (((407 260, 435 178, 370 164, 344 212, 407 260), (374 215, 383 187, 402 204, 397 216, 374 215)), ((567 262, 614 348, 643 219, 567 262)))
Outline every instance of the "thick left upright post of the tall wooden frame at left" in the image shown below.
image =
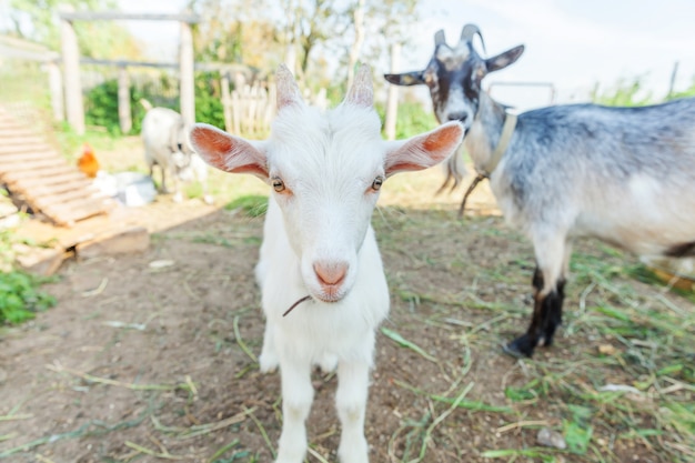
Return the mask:
POLYGON ((82 103, 82 83, 80 81, 80 50, 72 22, 60 20, 60 39, 63 56, 63 82, 66 85, 66 109, 68 123, 74 131, 84 134, 84 105, 82 103))

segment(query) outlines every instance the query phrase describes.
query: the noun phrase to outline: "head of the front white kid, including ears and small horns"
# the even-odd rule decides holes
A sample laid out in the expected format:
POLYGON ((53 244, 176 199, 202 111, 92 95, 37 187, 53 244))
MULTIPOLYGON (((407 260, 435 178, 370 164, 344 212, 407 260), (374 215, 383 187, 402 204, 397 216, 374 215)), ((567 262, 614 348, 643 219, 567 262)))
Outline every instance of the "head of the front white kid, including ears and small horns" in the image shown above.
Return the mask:
POLYGON ((266 141, 252 142, 197 124, 195 151, 211 165, 252 173, 271 187, 310 294, 343 299, 384 180, 444 160, 461 143, 460 123, 397 142, 381 139, 367 67, 345 101, 325 113, 306 105, 292 74, 278 72, 279 113, 266 141))

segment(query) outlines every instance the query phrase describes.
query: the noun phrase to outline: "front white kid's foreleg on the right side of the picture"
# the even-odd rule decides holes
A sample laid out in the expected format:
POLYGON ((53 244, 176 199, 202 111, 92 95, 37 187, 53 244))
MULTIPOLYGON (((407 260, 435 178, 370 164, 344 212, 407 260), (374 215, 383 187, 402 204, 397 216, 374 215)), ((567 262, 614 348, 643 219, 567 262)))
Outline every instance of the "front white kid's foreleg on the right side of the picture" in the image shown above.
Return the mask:
POLYGON ((370 365, 366 362, 339 362, 335 406, 343 427, 338 456, 341 463, 369 462, 364 439, 364 414, 370 365))

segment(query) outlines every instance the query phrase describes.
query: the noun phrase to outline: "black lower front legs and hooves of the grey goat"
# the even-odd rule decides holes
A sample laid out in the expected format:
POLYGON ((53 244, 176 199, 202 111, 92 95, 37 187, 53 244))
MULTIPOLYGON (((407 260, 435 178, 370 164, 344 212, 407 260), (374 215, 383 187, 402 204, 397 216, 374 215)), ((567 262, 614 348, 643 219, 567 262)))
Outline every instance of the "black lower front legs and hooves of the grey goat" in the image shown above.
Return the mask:
POLYGON ((525 334, 504 346, 514 356, 532 356, 536 345, 551 345, 557 326, 562 323, 562 302, 565 281, 560 279, 554 288, 543 293, 543 273, 536 268, 533 274, 534 308, 531 325, 525 334))

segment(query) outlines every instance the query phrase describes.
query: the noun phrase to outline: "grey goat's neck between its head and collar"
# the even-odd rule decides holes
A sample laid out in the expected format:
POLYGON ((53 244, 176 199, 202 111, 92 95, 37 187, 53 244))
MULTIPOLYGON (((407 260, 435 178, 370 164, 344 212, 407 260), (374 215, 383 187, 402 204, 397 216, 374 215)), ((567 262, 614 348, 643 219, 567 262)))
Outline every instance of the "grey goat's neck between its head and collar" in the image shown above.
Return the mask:
POLYGON ((492 173, 490 164, 495 147, 500 142, 504 117, 504 107, 495 102, 487 93, 481 92, 479 110, 463 141, 479 173, 492 173))

